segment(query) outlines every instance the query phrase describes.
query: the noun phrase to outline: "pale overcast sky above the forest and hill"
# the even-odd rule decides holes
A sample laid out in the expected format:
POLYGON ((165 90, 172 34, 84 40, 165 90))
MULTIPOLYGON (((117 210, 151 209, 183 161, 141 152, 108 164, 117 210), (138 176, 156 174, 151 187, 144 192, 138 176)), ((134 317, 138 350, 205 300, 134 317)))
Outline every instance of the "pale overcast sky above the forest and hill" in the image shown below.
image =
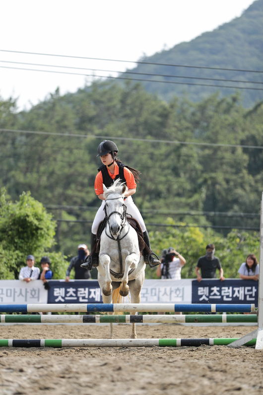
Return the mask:
MULTIPOLYGON (((136 61, 190 41, 229 22, 253 0, 0 0, 0 50, 136 61)), ((135 64, 0 51, 0 96, 17 97, 20 109, 48 97, 59 86, 74 92, 93 77, 15 70, 24 62, 125 71, 135 64), (2 68, 2 67, 8 67, 2 68)), ((200 65, 198 65, 200 66, 200 65)), ((209 66, 209 65, 206 65, 209 66)), ((95 72, 96 75, 116 75, 95 72)))

